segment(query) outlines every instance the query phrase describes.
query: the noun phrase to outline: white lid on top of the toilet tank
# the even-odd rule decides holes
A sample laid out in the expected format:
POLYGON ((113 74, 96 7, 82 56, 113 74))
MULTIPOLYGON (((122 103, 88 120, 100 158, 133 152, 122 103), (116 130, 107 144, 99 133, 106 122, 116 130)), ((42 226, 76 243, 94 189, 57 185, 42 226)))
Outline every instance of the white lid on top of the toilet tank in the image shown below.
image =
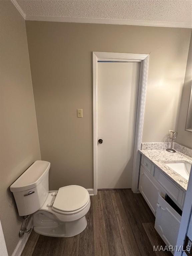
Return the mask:
POLYGON ((36 187, 49 171, 50 163, 35 161, 11 186, 12 192, 20 192, 36 187))

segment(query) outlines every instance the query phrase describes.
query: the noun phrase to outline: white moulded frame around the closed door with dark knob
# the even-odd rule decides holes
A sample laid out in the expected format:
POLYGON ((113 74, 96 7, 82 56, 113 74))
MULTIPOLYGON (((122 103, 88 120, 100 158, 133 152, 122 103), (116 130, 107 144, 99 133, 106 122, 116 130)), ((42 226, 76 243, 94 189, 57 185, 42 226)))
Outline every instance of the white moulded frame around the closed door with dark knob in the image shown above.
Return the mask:
POLYGON ((141 149, 142 133, 143 133, 143 119, 145 108, 145 94, 147 84, 147 72, 149 63, 149 54, 136 54, 136 53, 115 53, 115 52, 93 52, 93 173, 94 173, 94 195, 97 194, 98 188, 98 150, 97 150, 97 76, 98 76, 98 61, 123 61, 123 62, 139 62, 139 88, 137 100, 137 117, 135 129, 135 142, 134 142, 134 157, 133 157, 133 174, 131 189, 134 193, 138 193, 138 180, 139 180, 139 164, 141 149))

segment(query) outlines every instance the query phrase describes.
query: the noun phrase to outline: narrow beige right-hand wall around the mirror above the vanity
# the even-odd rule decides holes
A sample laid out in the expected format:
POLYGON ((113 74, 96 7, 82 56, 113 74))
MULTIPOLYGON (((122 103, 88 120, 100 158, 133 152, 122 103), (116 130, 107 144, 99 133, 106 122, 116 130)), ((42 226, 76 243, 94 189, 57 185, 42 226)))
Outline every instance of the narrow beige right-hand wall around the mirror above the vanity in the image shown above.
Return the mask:
POLYGON ((189 104, 189 96, 191 92, 191 83, 192 83, 192 37, 190 41, 188 59, 187 59, 187 67, 185 72, 185 80, 183 86, 183 94, 181 99, 181 107, 179 113, 179 121, 177 126, 178 136, 177 142, 192 148, 192 132, 185 131, 185 124, 187 118, 187 110, 189 104))

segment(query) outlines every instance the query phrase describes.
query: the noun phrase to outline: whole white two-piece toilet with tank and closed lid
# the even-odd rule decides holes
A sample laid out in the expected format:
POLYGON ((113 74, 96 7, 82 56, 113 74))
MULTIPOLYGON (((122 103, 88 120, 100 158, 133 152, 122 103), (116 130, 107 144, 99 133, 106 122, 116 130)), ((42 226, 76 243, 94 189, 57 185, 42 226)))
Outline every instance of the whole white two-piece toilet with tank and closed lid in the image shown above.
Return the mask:
POLYGON ((36 161, 10 186, 19 215, 33 214, 33 228, 38 234, 75 236, 87 226, 89 193, 77 185, 49 191, 49 169, 49 162, 36 161))

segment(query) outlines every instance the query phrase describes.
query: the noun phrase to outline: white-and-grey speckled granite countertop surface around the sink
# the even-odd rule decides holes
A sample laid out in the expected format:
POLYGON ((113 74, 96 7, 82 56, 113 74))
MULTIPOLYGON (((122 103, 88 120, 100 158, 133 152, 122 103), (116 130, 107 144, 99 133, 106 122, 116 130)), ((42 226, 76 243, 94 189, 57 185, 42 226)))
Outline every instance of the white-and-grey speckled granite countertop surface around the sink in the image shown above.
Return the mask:
POLYGON ((179 186, 182 190, 187 190, 188 180, 173 171, 165 162, 188 162, 192 164, 192 158, 186 156, 178 151, 170 153, 165 149, 139 150, 152 164, 157 166, 162 173, 164 173, 173 183, 179 186))

